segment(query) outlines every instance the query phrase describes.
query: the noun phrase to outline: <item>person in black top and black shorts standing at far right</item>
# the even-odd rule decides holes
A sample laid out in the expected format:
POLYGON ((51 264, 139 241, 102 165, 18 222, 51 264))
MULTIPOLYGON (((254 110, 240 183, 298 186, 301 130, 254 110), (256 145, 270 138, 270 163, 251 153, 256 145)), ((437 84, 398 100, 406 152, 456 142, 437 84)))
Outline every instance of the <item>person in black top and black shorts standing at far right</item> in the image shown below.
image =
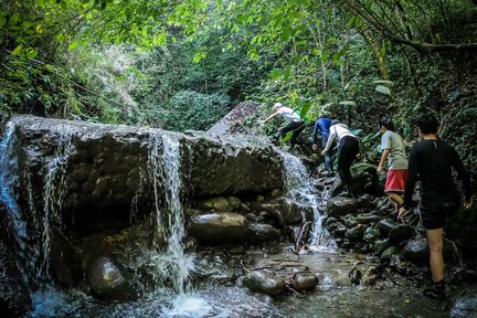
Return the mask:
POLYGON ((434 298, 445 297, 443 227, 447 215, 455 213, 459 206, 460 197, 454 183, 454 168, 465 191, 464 206, 473 204, 470 177, 460 161, 457 151, 447 142, 439 140, 437 132, 439 124, 432 115, 423 115, 416 120, 421 140, 412 149, 409 158, 407 180, 404 190, 404 203, 399 210, 398 219, 403 221, 403 214, 412 208, 414 186, 418 180, 422 184, 421 219, 426 230, 431 256, 430 265, 432 282, 424 288, 424 294, 434 298))

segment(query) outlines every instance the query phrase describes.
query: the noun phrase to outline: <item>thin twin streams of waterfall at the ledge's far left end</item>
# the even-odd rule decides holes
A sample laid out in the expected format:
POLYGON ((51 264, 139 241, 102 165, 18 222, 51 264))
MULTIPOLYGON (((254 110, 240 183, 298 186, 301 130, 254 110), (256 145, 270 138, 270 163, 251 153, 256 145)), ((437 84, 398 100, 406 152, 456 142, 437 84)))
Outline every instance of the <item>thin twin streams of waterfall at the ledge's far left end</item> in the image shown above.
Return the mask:
POLYGON ((14 124, 8 123, 0 144, 0 201, 7 208, 9 230, 14 239, 19 254, 19 268, 24 282, 32 280, 34 286, 51 282, 50 251, 52 220, 60 224, 59 211, 64 198, 66 158, 73 152, 71 137, 59 140, 53 158, 44 167, 43 210, 35 209, 31 178, 28 171, 19 171, 18 155, 14 151, 17 138, 14 124), (22 211, 14 191, 19 188, 19 173, 26 180, 28 209, 22 211), (26 218, 29 215, 29 218, 26 218), (30 223, 28 223, 30 222, 30 223))

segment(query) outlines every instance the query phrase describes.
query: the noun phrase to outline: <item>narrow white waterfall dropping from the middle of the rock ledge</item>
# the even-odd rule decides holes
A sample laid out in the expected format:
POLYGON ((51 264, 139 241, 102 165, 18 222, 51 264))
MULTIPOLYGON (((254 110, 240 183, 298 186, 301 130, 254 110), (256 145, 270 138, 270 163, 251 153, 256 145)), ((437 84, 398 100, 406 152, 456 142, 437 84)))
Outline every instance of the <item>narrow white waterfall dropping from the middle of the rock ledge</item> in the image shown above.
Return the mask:
POLYGON ((191 289, 188 277, 193 259, 186 255, 182 240, 186 236, 184 215, 181 201, 181 151, 173 135, 151 135, 149 142, 149 167, 155 194, 155 221, 158 233, 167 240, 167 251, 157 255, 160 268, 172 279, 179 294, 191 289), (161 148, 161 149, 160 149, 161 148), (161 150, 161 151, 160 151, 161 150), (163 204, 161 204, 163 191, 163 204), (163 206, 163 211, 161 208, 163 206))

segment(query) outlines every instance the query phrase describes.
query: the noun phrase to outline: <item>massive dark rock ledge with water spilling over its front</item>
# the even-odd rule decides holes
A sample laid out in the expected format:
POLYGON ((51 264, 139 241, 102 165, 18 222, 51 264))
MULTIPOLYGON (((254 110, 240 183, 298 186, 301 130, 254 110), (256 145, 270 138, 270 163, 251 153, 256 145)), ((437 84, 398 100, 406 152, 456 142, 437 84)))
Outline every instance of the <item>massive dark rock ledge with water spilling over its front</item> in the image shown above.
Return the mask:
POLYGON ((21 210, 43 211, 42 199, 51 190, 47 195, 53 201, 62 199, 55 206, 61 215, 54 219, 66 229, 97 231, 129 224, 131 218, 156 211, 153 202, 166 202, 170 182, 182 184, 183 197, 283 187, 280 155, 252 137, 216 139, 200 132, 28 115, 13 116, 8 129, 14 130, 11 145, 19 173, 14 192, 21 210), (168 165, 176 165, 179 178, 168 176, 172 167, 168 165))

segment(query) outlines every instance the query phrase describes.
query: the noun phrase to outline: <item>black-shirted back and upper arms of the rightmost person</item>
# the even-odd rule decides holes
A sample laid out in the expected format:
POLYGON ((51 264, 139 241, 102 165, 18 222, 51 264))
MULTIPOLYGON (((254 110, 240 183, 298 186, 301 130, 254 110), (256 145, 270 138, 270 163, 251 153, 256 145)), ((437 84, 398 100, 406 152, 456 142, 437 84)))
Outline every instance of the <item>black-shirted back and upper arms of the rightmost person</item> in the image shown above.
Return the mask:
POLYGON ((413 147, 410 156, 416 158, 423 200, 451 202, 458 199, 452 168, 454 167, 459 176, 466 172, 453 147, 438 139, 422 140, 413 147))

